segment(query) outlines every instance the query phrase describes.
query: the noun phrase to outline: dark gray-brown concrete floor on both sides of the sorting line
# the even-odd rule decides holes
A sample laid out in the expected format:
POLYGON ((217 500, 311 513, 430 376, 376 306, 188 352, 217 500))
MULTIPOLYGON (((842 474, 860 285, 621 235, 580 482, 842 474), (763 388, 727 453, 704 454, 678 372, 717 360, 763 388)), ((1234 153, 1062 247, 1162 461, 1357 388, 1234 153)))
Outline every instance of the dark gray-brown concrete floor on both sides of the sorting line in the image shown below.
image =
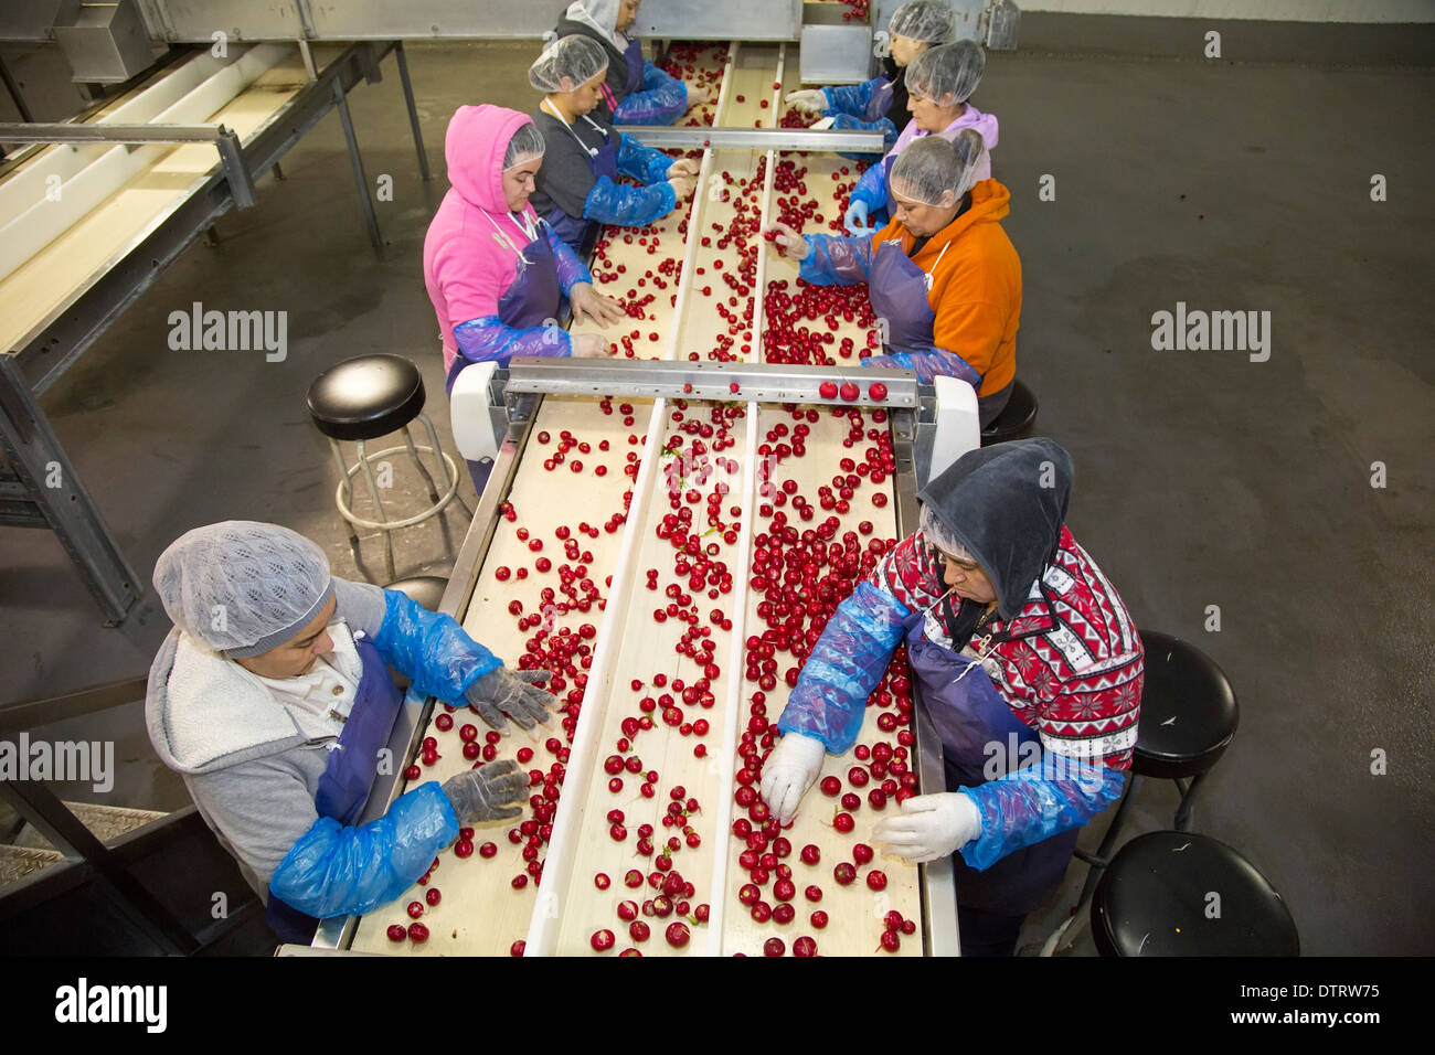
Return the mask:
MULTIPOLYGON (((436 178, 418 177, 392 63, 352 96, 380 202, 370 250, 339 121, 330 115, 265 179, 258 208, 220 222, 49 393, 43 406, 131 561, 148 580, 179 533, 273 520, 359 576, 333 510, 336 474, 303 396, 340 359, 420 365, 448 441, 422 244, 446 184, 453 108, 530 109, 527 44, 410 46, 436 178), (191 301, 288 311, 288 359, 169 352, 191 301)), ((1429 69, 1203 65, 993 55, 974 102, 1002 119, 996 177, 1025 271, 1020 372, 1039 432, 1073 455, 1071 525, 1139 626, 1194 640, 1241 703, 1195 827, 1286 897, 1312 955, 1435 952, 1429 871, 1435 553, 1435 164, 1429 69), (1372 202, 1372 174, 1389 201, 1372 202), (1056 200, 1038 198, 1043 175, 1056 200), (1151 316, 1177 301, 1271 313, 1269 362, 1155 352, 1151 316), (1372 462, 1385 488, 1372 488, 1372 462), (1204 630, 1220 607, 1220 632, 1204 630), (1372 775, 1372 752, 1388 772, 1372 775)), ((402 469, 400 469, 402 474, 402 469)), ((469 482, 465 497, 472 500, 469 482)), ((400 533, 399 574, 452 560, 465 518, 400 533)), ((0 530, 0 665, 7 700, 135 676, 168 630, 152 596, 102 629, 55 540, 0 530)), ((364 540, 366 568, 382 550, 364 540)), ((59 736, 59 733, 52 733, 59 736)), ((77 735, 77 733, 70 733, 77 735)), ((103 729, 129 762, 119 805, 174 808, 138 706, 103 729)), ((76 797, 85 797, 76 791, 76 797)), ((1147 785, 1128 833, 1170 825, 1147 785)), ((1095 847, 1105 818, 1082 844, 1095 847)), ((1076 866, 1033 913, 1038 942, 1075 903, 1076 866)), ((1078 952, 1089 952, 1088 940, 1078 952)))

